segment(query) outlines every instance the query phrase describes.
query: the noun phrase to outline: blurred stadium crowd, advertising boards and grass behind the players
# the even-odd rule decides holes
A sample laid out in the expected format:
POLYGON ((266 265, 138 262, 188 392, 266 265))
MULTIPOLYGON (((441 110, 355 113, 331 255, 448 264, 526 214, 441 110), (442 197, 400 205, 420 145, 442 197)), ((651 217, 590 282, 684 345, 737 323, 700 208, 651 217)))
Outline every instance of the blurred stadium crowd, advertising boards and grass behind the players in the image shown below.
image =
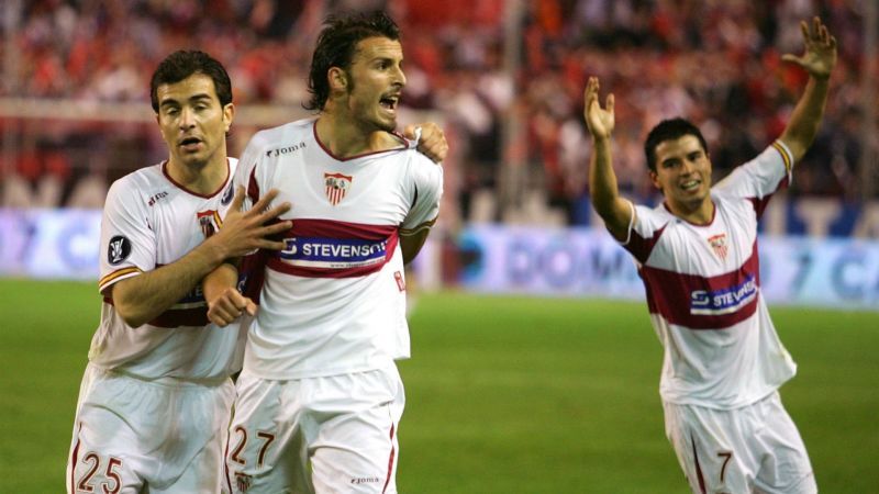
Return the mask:
POLYGON ((149 77, 178 48, 229 69, 230 155, 308 116, 333 12, 402 30, 400 123, 443 126, 439 222, 409 279, 413 359, 398 482, 414 493, 686 490, 663 434, 661 347, 630 256, 587 197, 582 91, 616 97, 615 168, 648 204, 647 131, 704 133, 714 179, 782 131, 783 64, 820 15, 839 61, 820 134, 761 222, 760 290, 800 363, 782 395, 824 492, 879 492, 876 0, 2 0, 0 478, 62 492, 113 180, 167 156, 149 77))

